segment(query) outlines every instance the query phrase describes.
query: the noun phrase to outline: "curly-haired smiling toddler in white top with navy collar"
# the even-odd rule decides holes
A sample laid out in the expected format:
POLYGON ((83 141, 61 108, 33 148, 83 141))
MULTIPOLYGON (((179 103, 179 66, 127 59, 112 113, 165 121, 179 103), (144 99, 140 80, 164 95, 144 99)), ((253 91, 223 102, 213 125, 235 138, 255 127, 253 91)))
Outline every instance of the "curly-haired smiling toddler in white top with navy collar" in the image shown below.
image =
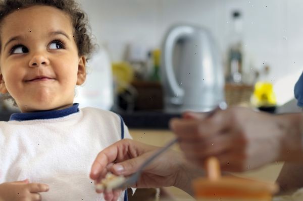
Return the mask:
POLYGON ((117 114, 73 103, 94 47, 84 12, 73 0, 6 0, 0 14, 0 92, 21 110, 0 122, 0 200, 104 200, 92 162, 131 137, 117 114))

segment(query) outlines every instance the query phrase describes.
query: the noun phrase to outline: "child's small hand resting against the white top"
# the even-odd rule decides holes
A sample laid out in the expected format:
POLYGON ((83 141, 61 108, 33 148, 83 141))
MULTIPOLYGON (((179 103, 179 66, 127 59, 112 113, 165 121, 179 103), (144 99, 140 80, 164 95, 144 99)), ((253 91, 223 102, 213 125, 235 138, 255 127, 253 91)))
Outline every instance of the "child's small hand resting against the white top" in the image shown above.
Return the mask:
POLYGON ((0 184, 0 201, 39 201, 39 192, 48 191, 48 185, 42 183, 29 183, 23 181, 7 182, 0 184))

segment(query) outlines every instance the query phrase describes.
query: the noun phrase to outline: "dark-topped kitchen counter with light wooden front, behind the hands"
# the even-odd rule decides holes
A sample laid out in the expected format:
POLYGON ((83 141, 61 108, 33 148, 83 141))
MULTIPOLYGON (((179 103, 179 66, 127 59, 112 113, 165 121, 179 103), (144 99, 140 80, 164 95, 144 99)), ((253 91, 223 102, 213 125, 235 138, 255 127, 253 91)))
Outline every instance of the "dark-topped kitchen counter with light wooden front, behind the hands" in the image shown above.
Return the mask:
MULTIPOLYGON (((0 120, 9 120, 12 113, 12 111, 0 112, 0 120)), ((166 114, 162 112, 134 112, 130 114, 121 113, 120 115, 123 117, 126 125, 128 125, 130 134, 134 140, 159 147, 164 146, 175 138, 174 133, 168 129, 168 122, 171 118, 180 116, 179 114, 166 114)), ((180 151, 178 144, 174 145, 172 149, 180 151)), ((276 180, 282 165, 282 162, 274 163, 236 175, 273 182, 276 180)), ((176 187, 165 187, 165 189, 178 197, 178 200, 194 200, 190 195, 176 187)))

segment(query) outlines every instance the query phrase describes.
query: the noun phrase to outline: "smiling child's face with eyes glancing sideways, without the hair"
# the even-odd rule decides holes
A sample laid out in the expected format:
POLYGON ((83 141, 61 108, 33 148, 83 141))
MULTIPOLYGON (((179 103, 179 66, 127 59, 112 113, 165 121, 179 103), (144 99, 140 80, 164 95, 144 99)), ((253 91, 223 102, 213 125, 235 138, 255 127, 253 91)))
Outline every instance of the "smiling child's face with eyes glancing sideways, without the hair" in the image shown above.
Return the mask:
POLYGON ((62 109, 85 81, 72 22, 63 11, 33 6, 9 14, 1 27, 0 92, 22 112, 62 109))

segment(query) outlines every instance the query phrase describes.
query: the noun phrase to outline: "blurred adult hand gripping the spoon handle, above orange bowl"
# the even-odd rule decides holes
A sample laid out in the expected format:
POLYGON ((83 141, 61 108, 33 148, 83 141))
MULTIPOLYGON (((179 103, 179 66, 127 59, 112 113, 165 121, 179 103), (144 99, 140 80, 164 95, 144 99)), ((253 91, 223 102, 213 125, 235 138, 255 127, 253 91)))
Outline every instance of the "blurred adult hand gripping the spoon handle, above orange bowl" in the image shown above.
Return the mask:
POLYGON ((199 166, 216 156, 222 170, 244 171, 301 153, 299 114, 271 115, 232 107, 210 117, 195 113, 184 117, 173 119, 170 126, 186 158, 199 166))

